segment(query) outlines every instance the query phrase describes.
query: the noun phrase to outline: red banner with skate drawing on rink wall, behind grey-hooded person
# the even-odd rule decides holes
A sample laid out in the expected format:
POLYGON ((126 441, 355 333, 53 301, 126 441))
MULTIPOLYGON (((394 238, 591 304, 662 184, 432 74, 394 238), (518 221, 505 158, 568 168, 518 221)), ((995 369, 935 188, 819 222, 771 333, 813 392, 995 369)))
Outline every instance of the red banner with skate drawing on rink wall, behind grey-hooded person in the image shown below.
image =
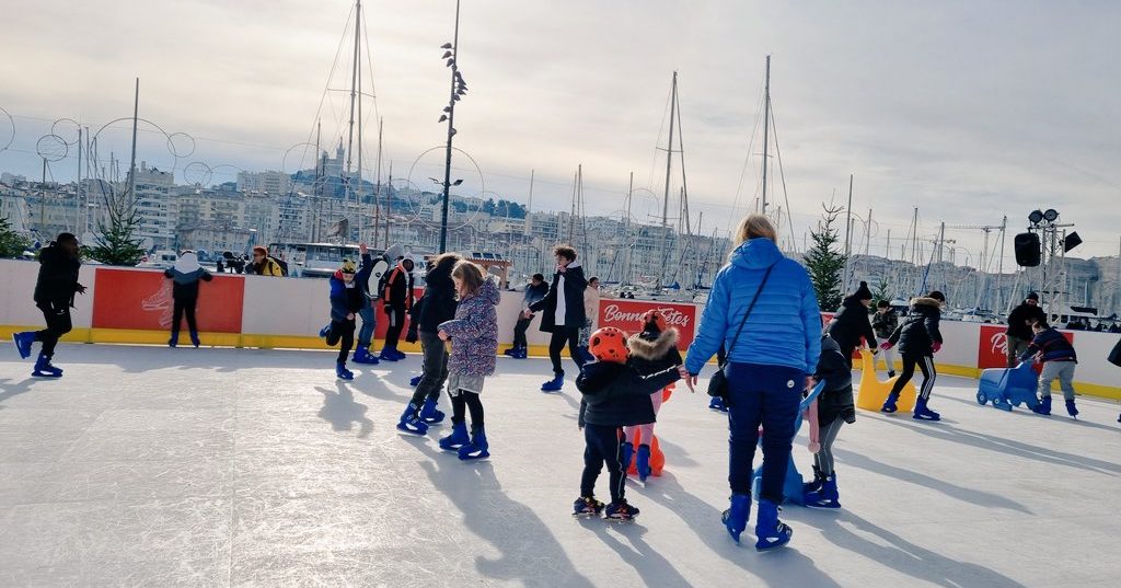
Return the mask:
MULTIPOLYGON (((198 284, 195 315, 200 331, 241 332, 245 281, 215 275, 198 284)), ((99 267, 94 274, 93 327, 96 329, 172 328, 172 281, 163 272, 99 267)))

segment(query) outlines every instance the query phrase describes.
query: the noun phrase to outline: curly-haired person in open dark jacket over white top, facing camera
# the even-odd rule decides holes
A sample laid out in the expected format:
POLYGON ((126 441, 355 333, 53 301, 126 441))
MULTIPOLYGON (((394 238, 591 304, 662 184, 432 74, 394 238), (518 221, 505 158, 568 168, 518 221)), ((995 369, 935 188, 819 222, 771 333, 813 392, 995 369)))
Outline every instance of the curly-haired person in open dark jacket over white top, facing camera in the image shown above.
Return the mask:
POLYGON ((564 386, 564 368, 560 367, 560 350, 568 344, 568 356, 576 367, 584 365, 580 347, 580 328, 584 325, 584 268, 576 263, 576 250, 567 245, 553 248, 557 260, 557 269, 553 275, 553 285, 544 298, 529 305, 522 318, 529 319, 532 313, 541 314, 541 331, 552 333, 549 338, 549 359, 553 360, 553 379, 541 385, 541 392, 558 392, 564 386))

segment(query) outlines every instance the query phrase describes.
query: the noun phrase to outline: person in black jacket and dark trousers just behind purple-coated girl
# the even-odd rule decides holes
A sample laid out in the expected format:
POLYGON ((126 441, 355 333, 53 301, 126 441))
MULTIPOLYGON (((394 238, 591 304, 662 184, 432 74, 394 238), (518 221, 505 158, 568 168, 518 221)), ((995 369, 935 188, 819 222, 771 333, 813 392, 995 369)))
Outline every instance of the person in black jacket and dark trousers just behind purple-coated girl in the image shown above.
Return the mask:
POLYGON ((424 296, 417 301, 417 338, 424 350, 424 368, 413 398, 401 414, 397 429, 425 434, 428 425, 443 422, 444 413, 436 408, 439 391, 447 380, 447 347, 439 339, 439 324, 455 318, 455 282, 452 268, 463 259, 457 254, 443 254, 432 260, 425 275, 424 296))

